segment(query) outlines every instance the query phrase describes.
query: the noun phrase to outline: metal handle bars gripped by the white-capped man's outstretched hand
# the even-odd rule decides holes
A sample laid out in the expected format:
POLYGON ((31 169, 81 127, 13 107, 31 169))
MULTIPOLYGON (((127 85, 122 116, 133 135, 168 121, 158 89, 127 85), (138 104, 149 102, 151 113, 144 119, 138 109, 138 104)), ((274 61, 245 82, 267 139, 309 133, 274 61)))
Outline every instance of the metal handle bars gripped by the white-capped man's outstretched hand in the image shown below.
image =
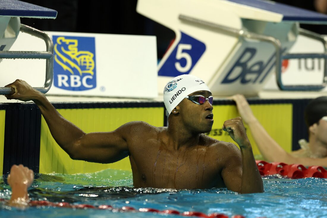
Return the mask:
MULTIPOLYGON (((34 89, 46 93, 49 91, 53 81, 53 42, 51 37, 43 31, 21 24, 20 31, 43 39, 46 51, 0 51, 0 58, 6 59, 46 59, 45 82, 43 87, 34 89)), ((14 93, 13 88, 0 87, 0 95, 10 95, 14 93)))

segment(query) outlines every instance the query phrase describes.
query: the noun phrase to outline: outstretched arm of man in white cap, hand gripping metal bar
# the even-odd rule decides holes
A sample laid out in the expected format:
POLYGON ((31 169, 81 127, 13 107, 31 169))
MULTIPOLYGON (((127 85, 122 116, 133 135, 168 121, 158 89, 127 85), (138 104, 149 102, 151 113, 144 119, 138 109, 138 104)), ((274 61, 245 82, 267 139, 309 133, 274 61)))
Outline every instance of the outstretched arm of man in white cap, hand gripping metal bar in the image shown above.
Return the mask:
POLYGON ((112 163, 128 156, 127 137, 132 123, 112 132, 86 134, 63 118, 43 93, 33 89, 25 81, 16 80, 6 87, 15 89, 14 94, 6 95, 7 99, 32 100, 37 104, 51 135, 72 159, 112 163))

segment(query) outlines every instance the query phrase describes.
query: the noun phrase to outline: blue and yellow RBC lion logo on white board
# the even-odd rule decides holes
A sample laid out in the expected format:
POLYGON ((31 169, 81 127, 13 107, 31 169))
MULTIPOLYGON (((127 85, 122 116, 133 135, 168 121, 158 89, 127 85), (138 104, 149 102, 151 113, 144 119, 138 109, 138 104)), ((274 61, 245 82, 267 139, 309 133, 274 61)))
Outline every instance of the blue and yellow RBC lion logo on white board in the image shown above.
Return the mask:
POLYGON ((54 85, 83 91, 96 87, 95 38, 53 36, 54 85))

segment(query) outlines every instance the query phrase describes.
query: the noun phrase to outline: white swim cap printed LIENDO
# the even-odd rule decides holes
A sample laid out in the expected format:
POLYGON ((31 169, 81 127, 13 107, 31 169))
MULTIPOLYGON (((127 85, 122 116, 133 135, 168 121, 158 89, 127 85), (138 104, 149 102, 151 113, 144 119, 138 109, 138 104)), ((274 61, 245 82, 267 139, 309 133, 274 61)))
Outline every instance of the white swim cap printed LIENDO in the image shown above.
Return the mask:
POLYGON ((209 87, 198 77, 184 74, 173 78, 163 89, 163 102, 168 113, 189 94, 196 91, 210 91, 209 87))

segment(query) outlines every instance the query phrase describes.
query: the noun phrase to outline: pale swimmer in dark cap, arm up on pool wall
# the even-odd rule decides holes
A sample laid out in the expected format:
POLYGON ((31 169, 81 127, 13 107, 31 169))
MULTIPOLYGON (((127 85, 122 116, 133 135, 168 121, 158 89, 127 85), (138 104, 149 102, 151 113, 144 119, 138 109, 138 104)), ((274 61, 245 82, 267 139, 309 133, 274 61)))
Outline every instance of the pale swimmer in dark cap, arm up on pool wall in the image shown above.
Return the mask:
POLYGON ((231 97, 239 114, 249 125, 252 136, 263 157, 270 162, 327 167, 327 96, 311 100, 304 111, 309 142, 299 141, 301 149, 287 153, 265 130, 253 115, 243 95, 231 97))

